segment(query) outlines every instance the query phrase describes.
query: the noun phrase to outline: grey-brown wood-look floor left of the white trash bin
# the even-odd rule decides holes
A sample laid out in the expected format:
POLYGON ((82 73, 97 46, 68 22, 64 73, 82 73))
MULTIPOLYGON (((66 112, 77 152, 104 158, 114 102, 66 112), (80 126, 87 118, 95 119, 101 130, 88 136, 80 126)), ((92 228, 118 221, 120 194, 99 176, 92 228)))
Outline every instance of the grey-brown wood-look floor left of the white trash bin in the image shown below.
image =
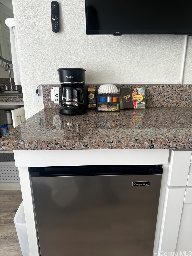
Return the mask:
POLYGON ((22 202, 21 190, 0 190, 1 256, 22 256, 13 218, 22 202))

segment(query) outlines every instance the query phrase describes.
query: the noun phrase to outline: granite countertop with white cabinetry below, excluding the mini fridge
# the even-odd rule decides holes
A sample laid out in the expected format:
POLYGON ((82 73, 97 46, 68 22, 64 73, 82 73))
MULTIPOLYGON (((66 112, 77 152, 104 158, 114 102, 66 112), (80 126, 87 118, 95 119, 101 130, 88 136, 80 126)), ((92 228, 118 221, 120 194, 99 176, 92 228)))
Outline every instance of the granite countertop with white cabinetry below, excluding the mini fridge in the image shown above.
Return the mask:
POLYGON ((192 205, 191 113, 175 107, 64 116, 45 108, 1 138, 19 167, 31 256, 39 251, 28 168, 41 166, 163 165, 154 252, 180 250, 191 237, 181 218, 192 205))

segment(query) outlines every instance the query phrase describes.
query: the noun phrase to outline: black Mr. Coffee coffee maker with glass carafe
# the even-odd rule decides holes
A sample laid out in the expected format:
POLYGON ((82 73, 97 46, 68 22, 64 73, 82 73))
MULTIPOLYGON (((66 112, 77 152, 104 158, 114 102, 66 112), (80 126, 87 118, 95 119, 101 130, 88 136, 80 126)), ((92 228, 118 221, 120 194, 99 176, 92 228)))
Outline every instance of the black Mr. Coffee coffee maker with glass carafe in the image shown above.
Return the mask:
POLYGON ((85 69, 59 68, 61 84, 61 106, 59 113, 64 115, 84 114, 87 109, 85 96, 85 69))

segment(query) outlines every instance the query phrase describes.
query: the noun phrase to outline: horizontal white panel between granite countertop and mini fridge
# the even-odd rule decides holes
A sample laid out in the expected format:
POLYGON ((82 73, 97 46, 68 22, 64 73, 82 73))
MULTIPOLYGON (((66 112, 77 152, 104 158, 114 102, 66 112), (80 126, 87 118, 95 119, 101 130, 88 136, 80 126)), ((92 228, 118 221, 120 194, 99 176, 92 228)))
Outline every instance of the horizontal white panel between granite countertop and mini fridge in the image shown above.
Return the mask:
MULTIPOLYGON (((113 149, 113 165, 123 164, 167 164, 169 149, 113 149)), ((67 165, 110 165, 111 149, 92 150, 16 150, 17 167, 67 166, 67 165), (29 152, 30 151, 30 152, 29 152), (53 161, 54 158, 57 161, 53 161), (99 159, 99 160, 98 160, 99 159)))

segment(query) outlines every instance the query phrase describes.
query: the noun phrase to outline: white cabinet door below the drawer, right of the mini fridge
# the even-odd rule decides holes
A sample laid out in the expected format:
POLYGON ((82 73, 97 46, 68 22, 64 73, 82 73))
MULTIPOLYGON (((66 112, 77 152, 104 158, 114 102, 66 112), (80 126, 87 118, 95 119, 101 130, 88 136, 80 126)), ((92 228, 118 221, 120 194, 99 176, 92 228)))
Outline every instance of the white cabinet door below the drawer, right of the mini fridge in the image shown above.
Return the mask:
POLYGON ((154 255, 191 255, 191 241, 192 188, 167 187, 159 249, 154 255))

